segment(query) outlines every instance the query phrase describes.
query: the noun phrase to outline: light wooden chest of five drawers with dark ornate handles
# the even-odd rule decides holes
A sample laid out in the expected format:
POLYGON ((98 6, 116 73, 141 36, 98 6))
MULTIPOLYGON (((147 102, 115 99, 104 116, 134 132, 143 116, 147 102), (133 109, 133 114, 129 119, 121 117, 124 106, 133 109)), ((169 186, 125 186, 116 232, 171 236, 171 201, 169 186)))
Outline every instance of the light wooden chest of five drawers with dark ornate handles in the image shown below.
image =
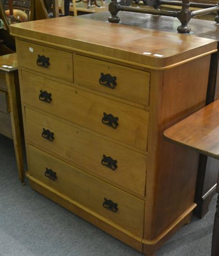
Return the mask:
POLYGON ((163 131, 204 106, 216 42, 80 17, 11 33, 31 186, 155 255, 190 221, 199 160, 163 131))

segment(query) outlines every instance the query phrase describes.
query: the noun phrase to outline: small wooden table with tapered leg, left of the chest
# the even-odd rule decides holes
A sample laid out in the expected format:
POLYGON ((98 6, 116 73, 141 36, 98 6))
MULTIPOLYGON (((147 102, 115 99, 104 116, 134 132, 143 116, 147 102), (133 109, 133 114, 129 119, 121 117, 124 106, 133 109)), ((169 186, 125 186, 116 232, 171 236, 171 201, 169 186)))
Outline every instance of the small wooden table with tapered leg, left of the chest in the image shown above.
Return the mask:
POLYGON ((0 133, 13 139, 19 178, 24 185, 22 115, 17 54, 0 56, 0 133))

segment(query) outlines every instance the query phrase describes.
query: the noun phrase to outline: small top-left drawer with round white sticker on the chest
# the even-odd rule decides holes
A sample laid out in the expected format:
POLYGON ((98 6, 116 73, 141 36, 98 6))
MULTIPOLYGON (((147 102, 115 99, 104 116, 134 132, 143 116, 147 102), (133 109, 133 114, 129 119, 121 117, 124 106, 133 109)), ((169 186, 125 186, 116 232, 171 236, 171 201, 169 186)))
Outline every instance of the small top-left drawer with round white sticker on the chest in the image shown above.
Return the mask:
POLYGON ((17 41, 19 66, 31 68, 49 76, 73 82, 72 52, 43 45, 17 41))

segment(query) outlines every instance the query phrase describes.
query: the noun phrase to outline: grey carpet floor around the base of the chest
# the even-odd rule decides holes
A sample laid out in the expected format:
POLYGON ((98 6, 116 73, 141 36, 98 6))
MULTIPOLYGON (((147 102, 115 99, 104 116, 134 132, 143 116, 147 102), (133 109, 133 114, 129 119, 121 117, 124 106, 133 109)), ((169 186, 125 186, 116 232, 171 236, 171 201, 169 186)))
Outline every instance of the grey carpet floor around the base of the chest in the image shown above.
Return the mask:
MULTIPOLYGON (((215 205, 216 196, 208 214, 202 220, 193 217, 156 256, 209 256, 215 205)), ((13 141, 0 134, 0 256, 142 256, 142 253, 36 193, 28 182, 22 186, 13 141)))

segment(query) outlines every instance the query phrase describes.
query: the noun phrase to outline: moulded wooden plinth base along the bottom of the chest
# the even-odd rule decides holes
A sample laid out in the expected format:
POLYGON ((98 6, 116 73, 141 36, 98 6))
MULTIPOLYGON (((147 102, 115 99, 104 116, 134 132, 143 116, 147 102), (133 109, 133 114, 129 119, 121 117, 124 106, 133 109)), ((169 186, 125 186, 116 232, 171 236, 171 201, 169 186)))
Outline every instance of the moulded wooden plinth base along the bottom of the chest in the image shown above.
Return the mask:
POLYGON ((85 220, 91 221, 91 223, 93 223, 94 225, 97 225, 99 228, 102 228, 105 232, 112 234, 113 236, 123 241, 124 243, 127 243, 127 241, 131 240, 132 242, 130 244, 132 244, 132 246, 140 252, 142 252, 142 250, 139 250, 140 244, 142 246, 146 246, 146 248, 149 248, 149 251, 151 252, 156 251, 157 248, 160 248, 160 246, 162 246, 162 244, 165 243, 167 239, 169 239, 169 237, 172 236, 172 234, 174 234, 174 231, 178 227, 182 227, 183 225, 185 225, 190 221, 192 216, 192 211, 193 209, 195 209, 197 205, 195 203, 190 205, 190 207, 188 207, 188 209, 186 209, 186 211, 183 212, 176 219, 176 221, 172 223, 172 225, 166 228, 162 232, 162 234, 160 234, 160 236, 150 241, 147 239, 142 239, 142 237, 134 236, 132 233, 128 232, 124 228, 121 228, 119 225, 112 223, 106 218, 103 218, 102 216, 100 216, 99 214, 96 214, 95 212, 89 210, 87 207, 84 207, 83 205, 75 202, 74 200, 71 200, 70 198, 68 198, 68 196, 65 196, 59 193, 58 191, 56 191, 56 189, 52 189, 49 186, 43 184, 43 182, 35 179, 30 173, 27 172, 26 175, 30 180, 31 186, 33 187, 33 189, 35 189, 39 193, 42 193, 40 191, 43 189, 43 195, 48 196, 52 200, 54 200, 54 196, 56 196, 57 199, 54 200, 55 202, 58 202, 59 204, 63 205, 63 207, 66 207, 66 209, 81 216, 85 220), (68 205, 72 205, 72 206, 69 207, 68 205), (107 225, 107 228, 105 228, 106 225, 107 225))

